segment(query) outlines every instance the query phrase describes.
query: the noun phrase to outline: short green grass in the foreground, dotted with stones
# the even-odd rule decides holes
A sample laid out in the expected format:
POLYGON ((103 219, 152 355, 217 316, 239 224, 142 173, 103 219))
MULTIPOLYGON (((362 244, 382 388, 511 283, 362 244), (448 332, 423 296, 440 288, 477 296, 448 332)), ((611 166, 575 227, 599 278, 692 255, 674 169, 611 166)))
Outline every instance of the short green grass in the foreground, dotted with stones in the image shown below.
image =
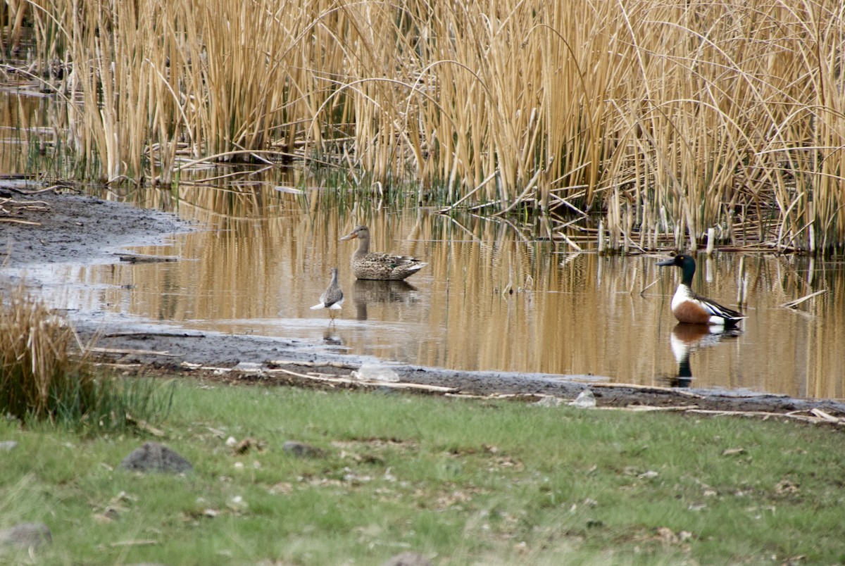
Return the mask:
POLYGON ((4 421, 0 527, 49 525, 43 564, 845 560, 829 428, 196 383, 172 406, 159 426, 187 476, 114 469, 144 438, 4 421))

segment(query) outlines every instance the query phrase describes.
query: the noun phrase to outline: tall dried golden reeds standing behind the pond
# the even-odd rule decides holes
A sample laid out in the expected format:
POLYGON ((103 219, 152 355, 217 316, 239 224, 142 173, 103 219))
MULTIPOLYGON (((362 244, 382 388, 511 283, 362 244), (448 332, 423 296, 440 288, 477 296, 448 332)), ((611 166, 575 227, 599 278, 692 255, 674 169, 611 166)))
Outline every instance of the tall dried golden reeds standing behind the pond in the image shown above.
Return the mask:
POLYGON ((447 204, 599 212, 610 248, 845 244, 833 0, 31 3, 109 179, 319 156, 447 204))

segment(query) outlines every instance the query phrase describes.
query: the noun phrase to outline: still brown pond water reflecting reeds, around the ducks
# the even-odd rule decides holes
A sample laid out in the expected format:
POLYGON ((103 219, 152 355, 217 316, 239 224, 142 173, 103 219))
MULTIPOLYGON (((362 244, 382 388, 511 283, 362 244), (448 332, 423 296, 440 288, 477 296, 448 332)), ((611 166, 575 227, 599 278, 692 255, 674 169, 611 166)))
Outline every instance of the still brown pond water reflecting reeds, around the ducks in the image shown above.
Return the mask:
POLYGON ((749 317, 738 335, 708 335, 669 312, 680 273, 657 267, 665 256, 601 257, 501 220, 322 206, 323 199, 318 190, 272 188, 146 194, 135 200, 174 208, 199 230, 134 251, 178 261, 52 266, 62 283, 51 302, 424 366, 845 397, 842 263, 699 256, 695 289, 727 306, 744 289, 749 317), (358 222, 370 226, 371 250, 428 265, 407 282, 355 280, 357 242, 339 239, 358 222), (327 311, 309 307, 334 266, 346 302, 330 324, 327 311), (797 308, 782 307, 820 290, 797 308))

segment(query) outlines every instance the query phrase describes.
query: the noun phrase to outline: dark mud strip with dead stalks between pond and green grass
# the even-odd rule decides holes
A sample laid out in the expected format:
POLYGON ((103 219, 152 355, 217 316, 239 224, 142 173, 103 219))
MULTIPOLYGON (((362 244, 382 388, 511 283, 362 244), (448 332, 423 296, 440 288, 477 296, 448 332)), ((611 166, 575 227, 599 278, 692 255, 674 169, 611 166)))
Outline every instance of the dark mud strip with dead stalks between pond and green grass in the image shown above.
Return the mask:
MULTIPOLYGON (((85 324, 87 332, 84 335, 90 337, 90 331, 95 328, 100 331, 97 346, 112 350, 113 362, 128 367, 134 364, 155 367, 163 373, 193 374, 229 384, 322 384, 335 388, 339 384, 314 381, 310 376, 348 378, 363 364, 378 363, 373 358, 336 354, 323 346, 296 340, 182 331, 170 326, 122 324, 119 329, 108 329, 85 324), (188 367, 196 368, 186 369, 188 367)), ((589 388, 599 406, 666 408, 695 405, 710 411, 773 413, 818 408, 832 415, 845 416, 845 404, 840 402, 793 399, 785 395, 608 384, 607 379, 586 375, 466 372, 401 365, 390 365, 390 369, 404 383, 429 386, 431 389, 414 389, 429 393, 449 388, 452 393, 465 395, 518 395, 528 400, 531 396, 553 396, 570 400, 589 388)), ((354 383, 341 385, 356 387, 354 383)))

